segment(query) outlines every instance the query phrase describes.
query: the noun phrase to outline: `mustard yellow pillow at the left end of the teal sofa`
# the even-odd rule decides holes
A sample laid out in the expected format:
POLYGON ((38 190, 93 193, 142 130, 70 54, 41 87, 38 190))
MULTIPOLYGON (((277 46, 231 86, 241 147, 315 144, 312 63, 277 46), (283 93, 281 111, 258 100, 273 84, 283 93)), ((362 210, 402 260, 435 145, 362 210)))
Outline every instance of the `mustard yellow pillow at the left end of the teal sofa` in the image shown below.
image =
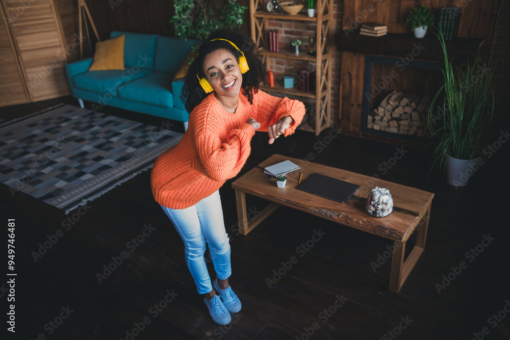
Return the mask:
POLYGON ((96 43, 89 71, 124 70, 124 36, 96 43))

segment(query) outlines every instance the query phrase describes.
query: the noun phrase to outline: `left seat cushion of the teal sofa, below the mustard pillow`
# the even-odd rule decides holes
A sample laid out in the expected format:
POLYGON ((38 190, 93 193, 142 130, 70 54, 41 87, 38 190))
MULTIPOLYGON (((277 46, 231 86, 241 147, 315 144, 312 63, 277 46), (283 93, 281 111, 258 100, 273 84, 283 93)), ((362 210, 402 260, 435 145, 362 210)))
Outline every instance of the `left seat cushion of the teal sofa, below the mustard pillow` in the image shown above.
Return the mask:
POLYGON ((127 70, 94 71, 78 74, 72 80, 77 88, 97 93, 117 95, 117 88, 127 82, 152 73, 151 70, 140 69, 137 73, 127 70))

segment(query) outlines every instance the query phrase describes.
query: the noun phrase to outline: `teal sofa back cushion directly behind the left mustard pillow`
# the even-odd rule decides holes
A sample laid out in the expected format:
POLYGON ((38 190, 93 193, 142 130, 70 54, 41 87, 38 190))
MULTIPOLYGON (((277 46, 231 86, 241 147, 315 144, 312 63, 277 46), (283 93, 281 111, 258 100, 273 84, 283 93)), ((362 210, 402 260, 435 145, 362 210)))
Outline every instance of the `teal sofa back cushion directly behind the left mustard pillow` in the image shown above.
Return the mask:
POLYGON ((154 69, 154 53, 158 35, 112 31, 110 38, 121 35, 125 35, 124 64, 126 66, 154 69))

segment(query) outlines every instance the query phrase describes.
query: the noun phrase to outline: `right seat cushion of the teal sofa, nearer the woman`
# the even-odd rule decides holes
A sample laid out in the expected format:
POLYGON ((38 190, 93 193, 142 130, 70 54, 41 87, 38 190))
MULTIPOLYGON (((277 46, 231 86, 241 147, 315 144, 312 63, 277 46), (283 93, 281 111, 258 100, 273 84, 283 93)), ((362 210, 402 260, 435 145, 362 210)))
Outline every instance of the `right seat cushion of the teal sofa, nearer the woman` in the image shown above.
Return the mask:
POLYGON ((154 72, 118 88, 120 98, 173 108, 173 74, 154 72))

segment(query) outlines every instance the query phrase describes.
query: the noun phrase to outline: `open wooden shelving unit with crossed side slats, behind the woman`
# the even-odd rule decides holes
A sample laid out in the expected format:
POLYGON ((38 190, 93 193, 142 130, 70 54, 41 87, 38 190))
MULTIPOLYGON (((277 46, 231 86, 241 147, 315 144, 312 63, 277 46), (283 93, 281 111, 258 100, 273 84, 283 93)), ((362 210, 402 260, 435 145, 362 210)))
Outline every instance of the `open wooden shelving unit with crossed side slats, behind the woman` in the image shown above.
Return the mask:
POLYGON ((314 132, 319 135, 322 130, 329 127, 331 110, 331 58, 333 47, 330 39, 330 30, 333 20, 333 0, 317 0, 317 11, 315 17, 305 14, 288 15, 281 13, 270 13, 265 10, 267 0, 250 0, 250 24, 251 38, 261 48, 262 56, 266 64, 270 65, 271 58, 282 58, 294 67, 281 74, 275 74, 274 87, 264 86, 261 89, 266 92, 284 93, 303 98, 315 99, 315 127, 310 124, 300 126, 301 129, 314 132), (300 55, 292 54, 289 49, 281 48, 281 52, 269 51, 269 19, 279 20, 303 20, 317 22, 316 56, 309 56, 307 53, 300 55), (267 47, 267 48, 266 48, 267 47), (284 88, 279 79, 283 75, 294 70, 307 68, 308 65, 315 66, 315 89, 313 92, 301 92, 296 88, 284 88))

